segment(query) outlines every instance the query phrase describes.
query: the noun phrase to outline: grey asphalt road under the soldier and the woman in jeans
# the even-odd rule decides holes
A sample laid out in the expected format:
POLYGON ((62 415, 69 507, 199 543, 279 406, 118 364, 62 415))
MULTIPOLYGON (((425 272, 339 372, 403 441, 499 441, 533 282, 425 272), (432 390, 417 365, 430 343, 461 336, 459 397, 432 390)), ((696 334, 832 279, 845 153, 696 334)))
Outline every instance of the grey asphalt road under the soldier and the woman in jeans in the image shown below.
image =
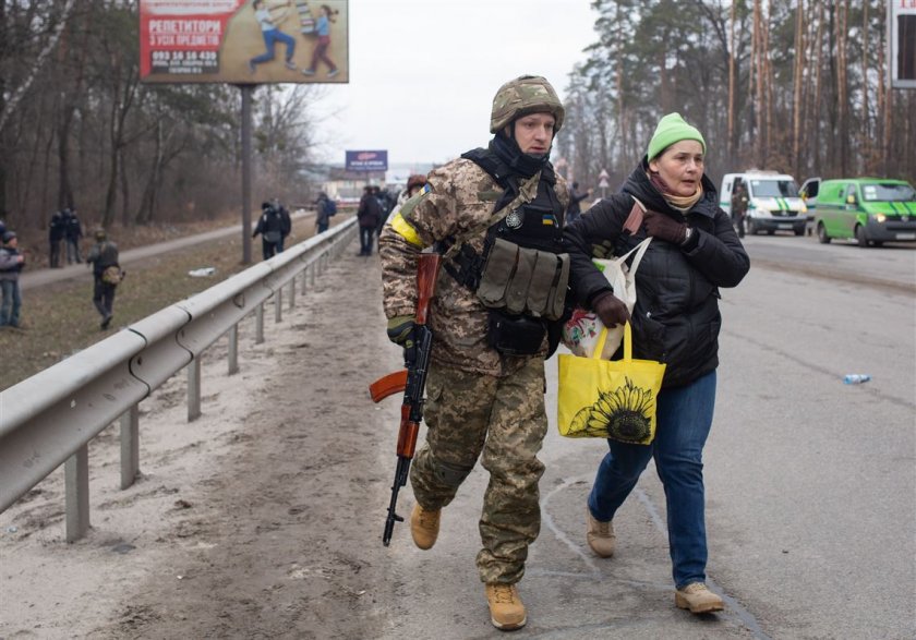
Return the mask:
MULTIPOLYGON (((746 244, 752 269, 722 292, 706 450, 709 575, 727 611, 697 618, 673 606, 664 494, 651 466, 616 519, 617 555, 590 554, 583 505, 604 445, 564 439, 552 425, 544 526, 521 583, 526 635, 916 637, 916 251, 781 236, 746 244), (872 381, 844 385, 846 373, 872 381)), ((553 418, 555 362, 546 369, 553 418)), ((431 637, 431 628, 481 637, 466 612, 479 597, 471 559, 485 481, 475 470, 431 552, 399 532, 390 553, 412 576, 403 601, 415 605, 386 637, 431 637)))

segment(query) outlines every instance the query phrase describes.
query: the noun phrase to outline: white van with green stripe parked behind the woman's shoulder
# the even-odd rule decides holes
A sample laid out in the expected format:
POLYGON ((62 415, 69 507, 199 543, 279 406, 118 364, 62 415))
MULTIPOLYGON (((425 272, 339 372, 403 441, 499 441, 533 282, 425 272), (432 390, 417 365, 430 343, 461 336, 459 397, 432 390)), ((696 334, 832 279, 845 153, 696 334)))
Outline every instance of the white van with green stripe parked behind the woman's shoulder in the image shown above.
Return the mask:
MULTIPOLYGON (((744 173, 726 173, 719 190, 719 206, 732 215, 732 193, 744 183, 747 188, 747 215, 744 230, 747 233, 766 231, 794 231, 805 234, 808 208, 798 195, 795 178, 775 171, 750 170, 744 173)), ((739 224, 736 221, 736 225, 739 224)))

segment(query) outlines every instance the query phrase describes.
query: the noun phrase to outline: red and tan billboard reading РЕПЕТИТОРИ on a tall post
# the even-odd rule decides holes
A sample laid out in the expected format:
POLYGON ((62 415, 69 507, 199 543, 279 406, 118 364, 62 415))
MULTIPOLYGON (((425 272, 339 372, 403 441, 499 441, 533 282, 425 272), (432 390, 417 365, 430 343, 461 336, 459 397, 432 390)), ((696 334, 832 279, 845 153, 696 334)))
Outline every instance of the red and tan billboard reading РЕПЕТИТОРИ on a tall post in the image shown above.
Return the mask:
POLYGON ((149 83, 347 83, 347 0, 140 0, 149 83))

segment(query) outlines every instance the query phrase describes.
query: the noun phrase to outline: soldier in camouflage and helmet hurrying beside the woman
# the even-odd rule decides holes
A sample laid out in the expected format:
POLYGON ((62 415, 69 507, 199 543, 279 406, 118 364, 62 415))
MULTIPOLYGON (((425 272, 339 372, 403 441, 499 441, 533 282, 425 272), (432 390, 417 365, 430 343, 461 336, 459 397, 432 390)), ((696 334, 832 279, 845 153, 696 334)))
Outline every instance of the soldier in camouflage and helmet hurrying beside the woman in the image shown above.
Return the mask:
POLYGON ((431 246, 444 254, 430 312, 429 428, 410 470, 410 531, 417 546, 433 546, 443 507, 482 455, 490 485, 477 566, 491 621, 503 630, 527 620, 516 584, 541 526, 544 360, 556 345, 569 264, 562 234, 568 193, 550 162, 563 118, 543 77, 507 82, 493 99, 489 148, 432 171, 379 239, 388 337, 407 359, 417 255, 431 246), (516 261, 532 268, 514 270, 516 261))

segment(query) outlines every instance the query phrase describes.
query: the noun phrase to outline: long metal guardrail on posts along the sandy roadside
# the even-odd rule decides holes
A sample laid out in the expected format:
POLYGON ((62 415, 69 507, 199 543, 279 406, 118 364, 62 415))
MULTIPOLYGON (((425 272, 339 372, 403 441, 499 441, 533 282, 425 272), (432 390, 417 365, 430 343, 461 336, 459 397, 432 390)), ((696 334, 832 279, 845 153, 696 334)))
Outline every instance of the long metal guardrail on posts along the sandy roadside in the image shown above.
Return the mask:
POLYGON ((0 512, 64 463, 67 540, 89 527, 88 443, 121 421, 121 488, 138 470, 138 410, 172 375, 188 370, 188 420, 201 414, 201 355, 229 336, 229 375, 238 372, 238 324, 254 313, 264 341, 264 302, 282 292, 296 303, 296 278, 315 283, 357 232, 355 217, 225 281, 134 323, 0 391, 0 512))

